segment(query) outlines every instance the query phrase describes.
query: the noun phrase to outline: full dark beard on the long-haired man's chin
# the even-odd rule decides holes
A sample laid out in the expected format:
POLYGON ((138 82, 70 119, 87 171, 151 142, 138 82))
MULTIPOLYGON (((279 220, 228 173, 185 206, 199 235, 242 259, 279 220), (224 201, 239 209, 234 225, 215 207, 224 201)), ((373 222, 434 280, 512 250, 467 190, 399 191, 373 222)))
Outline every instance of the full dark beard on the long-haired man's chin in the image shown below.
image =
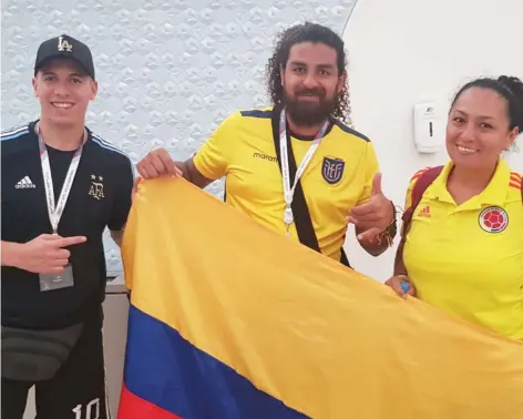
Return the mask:
MULTIPOLYGON (((302 93, 301 93, 302 94, 302 93)), ((338 98, 321 98, 317 102, 299 101, 285 94, 286 112, 296 125, 315 126, 329 119, 338 104, 338 98)))

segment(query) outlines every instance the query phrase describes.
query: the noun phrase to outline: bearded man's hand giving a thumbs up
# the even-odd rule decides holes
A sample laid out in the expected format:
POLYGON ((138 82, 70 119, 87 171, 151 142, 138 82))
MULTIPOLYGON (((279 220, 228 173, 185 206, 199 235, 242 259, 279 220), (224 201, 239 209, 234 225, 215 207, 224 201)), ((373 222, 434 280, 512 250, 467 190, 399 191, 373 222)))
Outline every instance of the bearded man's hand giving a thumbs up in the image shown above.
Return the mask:
POLYGON ((361 242, 372 241, 389 226, 393 217, 393 204, 381 191, 381 173, 377 173, 372 180, 369 202, 350 209, 347 219, 357 227, 358 239, 361 242))

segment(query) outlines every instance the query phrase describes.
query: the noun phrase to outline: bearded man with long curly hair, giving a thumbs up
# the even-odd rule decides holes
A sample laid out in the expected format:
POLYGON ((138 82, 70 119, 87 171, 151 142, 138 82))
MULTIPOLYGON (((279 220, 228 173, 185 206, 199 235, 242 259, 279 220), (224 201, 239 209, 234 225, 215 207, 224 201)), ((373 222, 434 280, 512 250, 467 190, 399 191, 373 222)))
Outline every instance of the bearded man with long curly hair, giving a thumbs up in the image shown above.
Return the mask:
POLYGON ((397 233, 394 205, 381 191, 372 143, 347 125, 346 67, 330 29, 285 30, 266 71, 273 105, 233 113, 185 162, 151 151, 140 175, 199 187, 225 176, 226 203, 281 235, 350 266, 342 246, 353 223, 360 245, 380 255, 397 233))

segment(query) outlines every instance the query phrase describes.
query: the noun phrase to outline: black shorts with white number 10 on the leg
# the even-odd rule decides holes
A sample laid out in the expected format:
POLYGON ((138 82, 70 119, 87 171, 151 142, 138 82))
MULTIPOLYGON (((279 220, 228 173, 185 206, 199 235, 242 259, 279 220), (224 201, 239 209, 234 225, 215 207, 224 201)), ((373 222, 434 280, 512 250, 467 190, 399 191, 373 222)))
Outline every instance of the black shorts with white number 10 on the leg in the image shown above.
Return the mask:
POLYGON ((2 378, 2 418, 22 419, 34 387, 38 419, 110 419, 100 321, 85 325, 68 361, 48 381, 2 378))

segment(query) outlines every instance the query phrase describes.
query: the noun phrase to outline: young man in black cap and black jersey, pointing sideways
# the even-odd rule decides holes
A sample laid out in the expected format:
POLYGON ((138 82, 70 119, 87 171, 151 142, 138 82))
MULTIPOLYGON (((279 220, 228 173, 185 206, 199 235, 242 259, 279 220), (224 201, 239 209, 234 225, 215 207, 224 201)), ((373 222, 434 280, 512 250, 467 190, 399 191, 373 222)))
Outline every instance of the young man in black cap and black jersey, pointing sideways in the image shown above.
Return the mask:
POLYGON ((62 34, 37 54, 41 117, 1 134, 2 417, 109 418, 102 234, 116 243, 134 181, 130 159, 85 127, 93 59, 62 34))

